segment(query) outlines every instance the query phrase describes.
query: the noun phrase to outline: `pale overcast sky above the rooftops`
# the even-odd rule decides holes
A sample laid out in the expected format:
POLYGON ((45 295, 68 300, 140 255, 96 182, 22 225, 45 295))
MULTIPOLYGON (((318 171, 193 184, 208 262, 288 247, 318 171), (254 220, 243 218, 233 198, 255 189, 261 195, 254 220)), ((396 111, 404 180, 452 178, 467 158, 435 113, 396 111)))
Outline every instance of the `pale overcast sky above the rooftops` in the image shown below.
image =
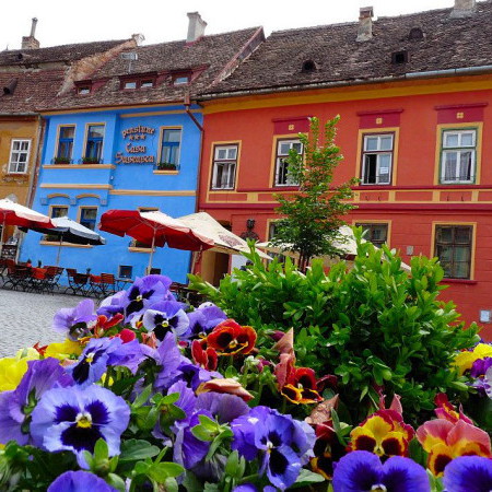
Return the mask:
POLYGON ((199 11, 206 34, 262 25, 271 31, 353 22, 359 8, 399 15, 453 7, 454 0, 1 0, 0 50, 19 49, 36 16, 43 46, 145 36, 144 44, 186 37, 187 12, 199 11))

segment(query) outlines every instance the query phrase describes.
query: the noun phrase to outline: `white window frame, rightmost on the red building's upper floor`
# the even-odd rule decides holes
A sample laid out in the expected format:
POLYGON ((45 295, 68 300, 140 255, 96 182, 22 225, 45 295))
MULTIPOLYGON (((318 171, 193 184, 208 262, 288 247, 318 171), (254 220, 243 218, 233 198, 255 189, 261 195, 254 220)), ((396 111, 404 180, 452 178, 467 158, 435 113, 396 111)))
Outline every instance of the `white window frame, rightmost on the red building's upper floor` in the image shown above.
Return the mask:
POLYGON ((441 142, 441 184, 449 185, 449 184, 473 184, 477 174, 477 129, 446 129, 443 130, 442 142, 441 142), (457 134, 458 137, 458 145, 457 147, 447 147, 446 145, 446 137, 448 134, 457 134), (462 137, 465 134, 471 134, 472 144, 464 145, 462 137), (470 166, 470 179, 460 179, 460 167, 461 167, 461 154, 470 152, 471 154, 471 166, 470 166), (453 179, 446 179, 446 156, 448 154, 456 154, 456 173, 453 179))

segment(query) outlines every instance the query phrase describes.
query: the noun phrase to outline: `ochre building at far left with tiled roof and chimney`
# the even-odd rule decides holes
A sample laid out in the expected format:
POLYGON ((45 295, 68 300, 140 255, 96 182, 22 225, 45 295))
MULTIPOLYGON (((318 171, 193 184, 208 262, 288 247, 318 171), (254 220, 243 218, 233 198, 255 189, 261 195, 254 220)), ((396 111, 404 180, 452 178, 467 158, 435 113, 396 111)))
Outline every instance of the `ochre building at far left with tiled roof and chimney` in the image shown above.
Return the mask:
MULTIPOLYGON (((85 78, 137 39, 40 48, 37 20, 21 49, 0 52, 0 197, 31 206, 44 140, 39 110, 75 78, 85 78)), ((5 227, 2 257, 15 257, 20 233, 5 227)))

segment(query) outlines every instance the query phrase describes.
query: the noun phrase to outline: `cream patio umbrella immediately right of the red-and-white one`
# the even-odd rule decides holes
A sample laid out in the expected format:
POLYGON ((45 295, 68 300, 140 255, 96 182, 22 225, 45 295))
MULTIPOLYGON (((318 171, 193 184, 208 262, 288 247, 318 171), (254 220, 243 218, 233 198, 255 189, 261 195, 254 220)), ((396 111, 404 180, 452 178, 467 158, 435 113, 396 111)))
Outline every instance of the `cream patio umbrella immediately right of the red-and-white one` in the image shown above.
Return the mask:
MULTIPOLYGON (((192 231, 197 231, 200 234, 211 237, 214 246, 210 251, 225 253, 227 255, 249 253, 249 246, 246 241, 236 234, 227 231, 221 225, 213 216, 207 212, 191 213, 178 218, 192 231)), ((257 249, 258 255, 265 259, 271 259, 270 256, 257 249)))

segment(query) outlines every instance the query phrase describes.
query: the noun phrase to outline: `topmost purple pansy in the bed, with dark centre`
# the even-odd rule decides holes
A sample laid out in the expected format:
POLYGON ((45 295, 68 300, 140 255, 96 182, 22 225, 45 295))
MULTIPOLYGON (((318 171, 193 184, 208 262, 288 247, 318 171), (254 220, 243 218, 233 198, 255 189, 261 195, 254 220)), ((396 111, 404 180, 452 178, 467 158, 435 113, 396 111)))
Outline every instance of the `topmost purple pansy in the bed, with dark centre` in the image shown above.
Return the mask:
POLYGON ((169 292, 171 279, 164 276, 147 276, 137 278, 133 285, 126 292, 125 317, 131 321, 144 309, 161 301, 173 300, 169 292))

